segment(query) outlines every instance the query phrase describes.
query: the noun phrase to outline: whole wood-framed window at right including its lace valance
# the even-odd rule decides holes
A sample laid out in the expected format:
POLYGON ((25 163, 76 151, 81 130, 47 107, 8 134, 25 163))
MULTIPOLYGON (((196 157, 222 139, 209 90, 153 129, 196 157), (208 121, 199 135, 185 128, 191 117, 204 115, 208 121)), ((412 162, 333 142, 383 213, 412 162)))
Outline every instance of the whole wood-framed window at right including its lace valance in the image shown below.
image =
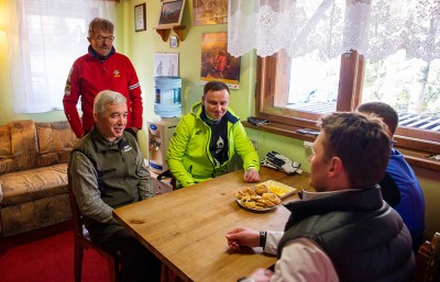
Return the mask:
POLYGON ((261 56, 256 114, 278 123, 265 131, 297 137, 323 113, 381 100, 402 114, 398 146, 439 154, 439 15, 433 0, 229 0, 228 52, 261 56))

